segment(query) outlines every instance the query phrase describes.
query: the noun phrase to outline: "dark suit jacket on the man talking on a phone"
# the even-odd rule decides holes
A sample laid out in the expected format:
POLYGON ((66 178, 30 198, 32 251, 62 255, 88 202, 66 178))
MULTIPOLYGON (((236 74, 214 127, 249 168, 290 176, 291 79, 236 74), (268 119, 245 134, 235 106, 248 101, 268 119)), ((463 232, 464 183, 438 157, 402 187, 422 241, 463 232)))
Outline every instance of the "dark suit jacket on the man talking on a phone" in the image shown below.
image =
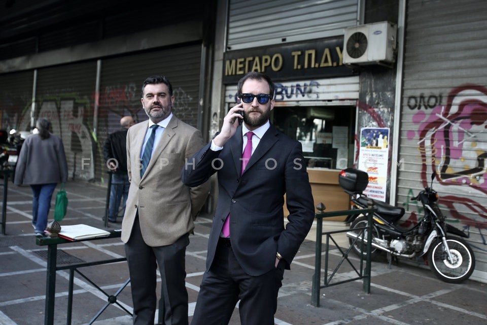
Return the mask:
POLYGON ((208 240, 206 269, 212 265, 223 221, 229 213, 232 249, 247 274, 258 276, 272 270, 276 252, 283 255, 289 269, 315 218, 301 143, 271 125, 240 175, 241 134, 239 126, 221 151, 213 151, 211 143, 207 144, 182 171, 183 183, 188 186, 197 186, 218 173, 218 204, 208 240), (290 213, 286 229, 284 194, 290 213))

